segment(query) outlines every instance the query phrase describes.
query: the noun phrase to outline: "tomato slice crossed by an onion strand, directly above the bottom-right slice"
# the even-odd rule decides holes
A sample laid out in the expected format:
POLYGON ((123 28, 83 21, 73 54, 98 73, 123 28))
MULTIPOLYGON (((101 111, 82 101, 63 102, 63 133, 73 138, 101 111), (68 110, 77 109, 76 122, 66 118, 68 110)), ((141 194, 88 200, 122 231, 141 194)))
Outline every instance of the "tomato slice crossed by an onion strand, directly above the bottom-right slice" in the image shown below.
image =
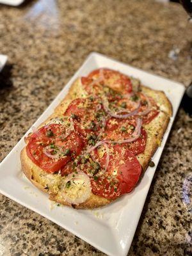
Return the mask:
MULTIPOLYGON (((123 141, 131 138, 135 124, 129 119, 110 118, 104 131, 104 139, 112 141, 123 141)), ((141 154, 145 150, 147 132, 141 128, 141 136, 131 143, 124 143, 134 155, 141 154)))

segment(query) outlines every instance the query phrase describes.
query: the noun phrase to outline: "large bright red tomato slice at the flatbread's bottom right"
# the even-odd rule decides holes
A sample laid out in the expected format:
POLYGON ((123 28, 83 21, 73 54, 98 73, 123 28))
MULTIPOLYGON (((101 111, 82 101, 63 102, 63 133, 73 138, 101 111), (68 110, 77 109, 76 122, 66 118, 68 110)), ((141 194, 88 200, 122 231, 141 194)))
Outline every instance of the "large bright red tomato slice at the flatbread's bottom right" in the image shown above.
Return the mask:
MULTIPOLYGON (((92 192, 95 195, 115 199, 129 193, 138 183, 141 175, 141 164, 128 148, 122 145, 109 145, 109 165, 104 175, 91 178, 92 192)), ((97 161, 104 167, 106 154, 97 161)))

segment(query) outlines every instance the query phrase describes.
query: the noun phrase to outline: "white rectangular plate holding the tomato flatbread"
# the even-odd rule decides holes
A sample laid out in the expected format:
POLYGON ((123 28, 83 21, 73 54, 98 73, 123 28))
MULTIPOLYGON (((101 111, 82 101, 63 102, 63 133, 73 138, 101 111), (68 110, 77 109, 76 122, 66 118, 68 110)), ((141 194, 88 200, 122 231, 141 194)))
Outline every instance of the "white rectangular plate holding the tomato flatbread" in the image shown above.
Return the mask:
MULTIPOLYGON (((58 97, 52 102, 47 110, 35 122, 40 125, 54 111, 61 99, 65 97, 74 80, 79 76, 86 76, 95 68, 108 67, 129 76, 137 77, 142 84, 156 90, 163 90, 172 102, 173 117, 168 129, 164 134, 161 147, 157 149, 153 157, 154 163, 158 164, 173 120, 179 108, 180 100, 184 94, 184 86, 163 77, 154 76, 138 68, 124 63, 111 60, 106 56, 93 52, 88 56, 84 64, 77 70, 58 97)), ((29 129, 28 132, 31 132, 29 129)), ((26 132, 26 134, 28 134, 26 132)), ((48 196, 35 188, 20 171, 20 150, 24 147, 24 138, 13 148, 0 166, 0 191, 21 205, 38 212, 45 218, 66 228, 84 241, 92 244, 100 251, 111 256, 125 256, 131 246, 134 232, 140 219, 141 211, 147 197, 148 189, 156 171, 148 168, 140 184, 132 191, 116 200, 111 205, 96 210, 75 210, 69 207, 53 207, 50 209, 48 196), (28 189, 26 189, 28 188, 28 189), (25 190, 26 189, 26 190, 25 190), (137 204, 135 204, 137 202, 137 204)))

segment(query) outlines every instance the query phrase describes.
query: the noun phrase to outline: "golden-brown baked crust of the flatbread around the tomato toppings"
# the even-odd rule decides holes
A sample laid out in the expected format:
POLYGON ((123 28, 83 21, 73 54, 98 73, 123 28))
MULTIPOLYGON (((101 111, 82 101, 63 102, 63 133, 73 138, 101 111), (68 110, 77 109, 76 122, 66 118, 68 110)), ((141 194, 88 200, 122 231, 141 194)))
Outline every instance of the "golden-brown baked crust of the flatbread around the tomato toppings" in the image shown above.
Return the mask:
MULTIPOLYGON (((161 140, 163 139, 163 134, 166 131, 168 126, 170 116, 172 116, 172 105, 168 98, 166 97, 164 92, 152 90, 147 86, 140 86, 140 90, 144 92, 149 97, 152 97, 157 105, 159 106, 160 112, 159 115, 156 116, 149 124, 144 124, 145 130, 147 131, 147 143, 145 147, 145 151, 137 156, 138 161, 140 162, 143 171, 147 169, 148 163, 154 153, 157 150, 157 147, 161 145, 161 140)), ((87 93, 83 90, 83 86, 81 84, 81 79, 78 78, 72 84, 70 89, 68 90, 68 94, 65 99, 61 100, 60 104, 54 109, 54 113, 52 113, 45 122, 43 122, 39 127, 47 124, 51 118, 61 116, 68 105, 72 100, 77 99, 79 97, 85 98, 87 97, 87 93)), ((28 139, 26 138, 26 143, 28 143, 28 139)), ((44 172, 41 168, 36 166, 31 159, 29 159, 26 153, 26 147, 20 153, 20 161, 22 166, 22 172, 25 173, 26 177, 38 188, 49 194, 49 198, 63 205, 67 205, 70 207, 74 207, 76 209, 93 209, 97 207, 101 207, 103 205, 110 204, 113 200, 109 200, 107 198, 103 198, 102 196, 93 195, 91 193, 90 198, 86 200, 86 202, 79 205, 70 205, 68 204, 61 194, 61 185, 63 182, 63 177, 61 177, 58 173, 51 174, 44 172)))

